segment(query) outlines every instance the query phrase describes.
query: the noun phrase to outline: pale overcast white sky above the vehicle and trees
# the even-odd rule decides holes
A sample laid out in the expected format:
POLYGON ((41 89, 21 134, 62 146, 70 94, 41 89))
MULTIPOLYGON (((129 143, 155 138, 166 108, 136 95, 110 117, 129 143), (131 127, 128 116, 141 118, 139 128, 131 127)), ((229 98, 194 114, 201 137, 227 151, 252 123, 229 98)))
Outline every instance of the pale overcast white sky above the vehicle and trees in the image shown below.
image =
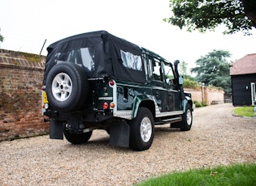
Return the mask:
POLYGON ((171 16, 168 0, 3 0, 0 28, 4 41, 0 49, 46 55, 48 45, 67 36, 106 30, 166 58, 185 61, 189 68, 212 50, 232 53, 236 61, 256 53, 256 29, 251 36, 241 32, 186 32, 164 23, 171 16))

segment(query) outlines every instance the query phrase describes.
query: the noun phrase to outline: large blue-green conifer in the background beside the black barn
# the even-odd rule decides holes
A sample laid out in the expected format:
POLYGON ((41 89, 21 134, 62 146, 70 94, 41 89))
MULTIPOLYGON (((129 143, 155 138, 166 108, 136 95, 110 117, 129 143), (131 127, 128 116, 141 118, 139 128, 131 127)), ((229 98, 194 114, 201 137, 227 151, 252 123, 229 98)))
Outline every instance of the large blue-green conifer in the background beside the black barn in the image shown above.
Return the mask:
POLYGON ((197 59, 197 67, 191 72, 197 74, 197 82, 205 82, 207 86, 222 87, 228 93, 231 92, 231 79, 229 77, 229 62, 227 57, 231 54, 224 50, 213 50, 204 57, 197 59))

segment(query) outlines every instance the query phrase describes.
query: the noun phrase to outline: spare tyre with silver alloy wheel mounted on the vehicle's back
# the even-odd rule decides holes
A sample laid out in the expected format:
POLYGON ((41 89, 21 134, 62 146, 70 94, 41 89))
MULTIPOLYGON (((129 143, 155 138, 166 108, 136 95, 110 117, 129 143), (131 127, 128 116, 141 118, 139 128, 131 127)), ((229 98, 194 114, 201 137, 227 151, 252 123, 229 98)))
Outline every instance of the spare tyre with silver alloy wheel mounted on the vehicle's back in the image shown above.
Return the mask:
POLYGON ((70 62, 56 64, 46 78, 46 93, 50 106, 70 112, 85 103, 88 80, 80 66, 70 62))

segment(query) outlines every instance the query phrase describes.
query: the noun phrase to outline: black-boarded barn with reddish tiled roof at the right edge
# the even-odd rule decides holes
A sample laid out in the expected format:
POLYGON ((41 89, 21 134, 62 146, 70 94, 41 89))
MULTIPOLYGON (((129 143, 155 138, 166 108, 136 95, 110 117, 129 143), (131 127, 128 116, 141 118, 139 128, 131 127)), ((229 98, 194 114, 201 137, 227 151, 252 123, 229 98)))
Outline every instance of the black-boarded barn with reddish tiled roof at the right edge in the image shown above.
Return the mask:
POLYGON ((232 104, 255 105, 256 53, 248 54, 230 66, 232 104))

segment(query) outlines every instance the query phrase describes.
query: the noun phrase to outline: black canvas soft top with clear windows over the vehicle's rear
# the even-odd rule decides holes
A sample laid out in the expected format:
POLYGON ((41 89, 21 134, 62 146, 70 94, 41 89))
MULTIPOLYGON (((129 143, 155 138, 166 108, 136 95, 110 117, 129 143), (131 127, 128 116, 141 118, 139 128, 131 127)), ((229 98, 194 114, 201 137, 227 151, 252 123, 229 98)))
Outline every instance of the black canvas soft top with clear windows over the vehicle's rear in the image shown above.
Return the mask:
POLYGON ((46 73, 61 61, 85 68, 88 78, 110 77, 128 82, 145 82, 141 48, 106 31, 67 37, 47 48, 46 73))

